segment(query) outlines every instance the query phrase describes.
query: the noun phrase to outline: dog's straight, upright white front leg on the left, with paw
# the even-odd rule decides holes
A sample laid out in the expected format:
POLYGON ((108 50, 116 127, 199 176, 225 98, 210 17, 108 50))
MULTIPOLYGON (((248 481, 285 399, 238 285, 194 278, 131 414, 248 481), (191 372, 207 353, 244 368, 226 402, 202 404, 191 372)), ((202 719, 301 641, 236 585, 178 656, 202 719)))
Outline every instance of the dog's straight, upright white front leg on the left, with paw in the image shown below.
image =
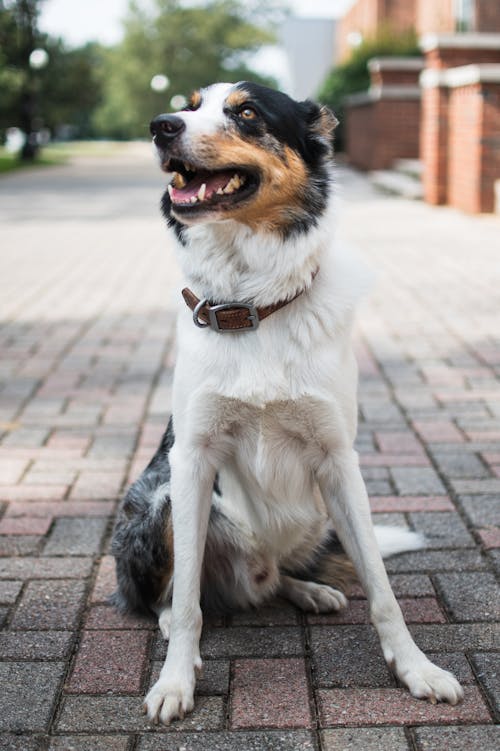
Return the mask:
POLYGON ((165 725, 194 706, 195 670, 201 669, 200 574, 215 469, 200 450, 174 444, 170 452, 174 528, 174 588, 167 658, 145 699, 153 722, 165 725))

